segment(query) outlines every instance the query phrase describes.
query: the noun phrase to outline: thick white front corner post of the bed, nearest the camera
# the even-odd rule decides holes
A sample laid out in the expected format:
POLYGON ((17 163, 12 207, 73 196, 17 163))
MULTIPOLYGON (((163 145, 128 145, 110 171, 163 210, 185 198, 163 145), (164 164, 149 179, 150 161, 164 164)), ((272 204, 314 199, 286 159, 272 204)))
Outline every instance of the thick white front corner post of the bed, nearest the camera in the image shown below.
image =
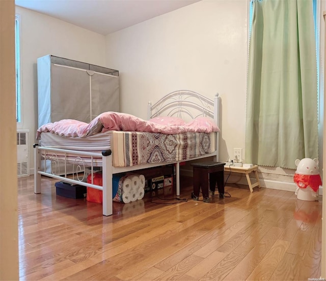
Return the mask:
POLYGON ((103 156, 102 160, 103 215, 112 215, 112 155, 103 156))

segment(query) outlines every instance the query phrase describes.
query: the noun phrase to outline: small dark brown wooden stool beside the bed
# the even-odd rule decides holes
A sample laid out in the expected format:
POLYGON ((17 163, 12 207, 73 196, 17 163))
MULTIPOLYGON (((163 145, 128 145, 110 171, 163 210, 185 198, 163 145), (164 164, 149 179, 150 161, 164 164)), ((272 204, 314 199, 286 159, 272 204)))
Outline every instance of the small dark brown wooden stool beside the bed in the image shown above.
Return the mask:
POLYGON ((198 200, 200 188, 202 189, 203 201, 209 203, 209 190, 215 192, 215 185, 218 184, 219 196, 224 198, 224 162, 200 162, 193 163, 194 172, 194 195, 193 199, 198 200))

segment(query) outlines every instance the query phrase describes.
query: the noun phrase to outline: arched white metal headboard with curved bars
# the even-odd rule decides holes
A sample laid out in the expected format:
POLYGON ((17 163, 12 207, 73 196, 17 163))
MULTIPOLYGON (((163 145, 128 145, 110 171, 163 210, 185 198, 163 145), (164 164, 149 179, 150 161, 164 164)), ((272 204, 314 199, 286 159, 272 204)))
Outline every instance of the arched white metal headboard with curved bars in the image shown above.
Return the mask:
POLYGON ((219 108, 218 93, 211 100, 194 91, 178 90, 168 93, 154 105, 149 102, 147 118, 175 116, 189 121, 198 116, 205 116, 213 118, 219 126, 219 108))

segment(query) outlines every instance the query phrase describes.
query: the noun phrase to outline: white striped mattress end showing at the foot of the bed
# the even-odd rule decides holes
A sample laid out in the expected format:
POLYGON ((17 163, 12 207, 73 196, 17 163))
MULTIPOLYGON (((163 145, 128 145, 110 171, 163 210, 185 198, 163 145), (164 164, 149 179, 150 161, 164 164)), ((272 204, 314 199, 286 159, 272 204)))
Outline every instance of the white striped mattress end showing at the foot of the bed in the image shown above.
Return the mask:
POLYGON ((87 138, 67 138, 52 133, 42 133, 39 146, 80 150, 80 151, 102 151, 110 149, 112 131, 95 134, 87 138))

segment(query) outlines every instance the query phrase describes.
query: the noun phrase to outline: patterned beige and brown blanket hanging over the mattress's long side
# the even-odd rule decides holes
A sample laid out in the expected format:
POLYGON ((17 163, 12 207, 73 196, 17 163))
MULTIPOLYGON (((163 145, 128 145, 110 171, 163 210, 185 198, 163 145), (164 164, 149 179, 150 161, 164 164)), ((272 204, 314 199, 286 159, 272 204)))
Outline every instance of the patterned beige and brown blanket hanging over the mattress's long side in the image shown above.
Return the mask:
POLYGON ((215 139, 214 132, 167 135, 114 131, 111 139, 113 166, 185 161, 214 152, 215 139))

